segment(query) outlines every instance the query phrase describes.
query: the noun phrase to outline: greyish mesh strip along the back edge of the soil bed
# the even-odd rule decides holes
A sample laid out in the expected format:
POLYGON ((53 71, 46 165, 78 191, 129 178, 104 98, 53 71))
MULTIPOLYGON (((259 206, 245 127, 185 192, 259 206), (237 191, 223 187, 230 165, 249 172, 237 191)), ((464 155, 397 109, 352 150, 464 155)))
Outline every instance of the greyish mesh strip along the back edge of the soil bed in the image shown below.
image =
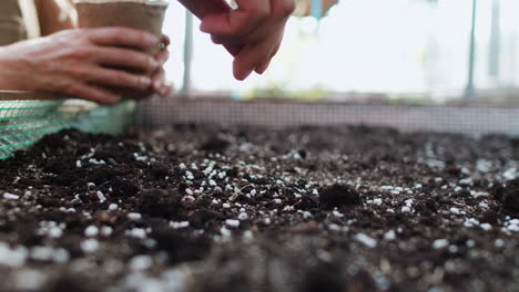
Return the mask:
POLYGON ((144 127, 174 124, 388 126, 404 132, 519 136, 519 107, 363 105, 338 102, 235 102, 221 98, 152 100, 139 106, 144 127))

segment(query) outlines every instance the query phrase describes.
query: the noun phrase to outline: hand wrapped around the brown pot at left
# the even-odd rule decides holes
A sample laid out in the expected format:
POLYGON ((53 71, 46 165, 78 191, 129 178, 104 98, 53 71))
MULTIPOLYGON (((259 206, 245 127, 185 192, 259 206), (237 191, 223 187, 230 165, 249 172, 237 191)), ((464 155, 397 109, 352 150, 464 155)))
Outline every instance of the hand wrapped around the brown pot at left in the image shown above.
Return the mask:
POLYGON ((161 63, 141 52, 157 43, 147 32, 102 28, 67 30, 2 46, 0 90, 53 92, 102 104, 122 97, 104 87, 160 91, 149 75, 159 72, 161 63))

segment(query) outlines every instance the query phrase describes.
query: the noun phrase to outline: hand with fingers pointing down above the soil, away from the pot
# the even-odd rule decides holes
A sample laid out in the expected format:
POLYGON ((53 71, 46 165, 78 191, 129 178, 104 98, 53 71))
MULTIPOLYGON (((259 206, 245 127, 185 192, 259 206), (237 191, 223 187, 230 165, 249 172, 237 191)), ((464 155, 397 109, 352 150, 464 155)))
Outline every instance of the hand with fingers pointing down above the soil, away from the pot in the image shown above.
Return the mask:
POLYGON ((226 48, 241 45, 233 71, 245 80, 253 71, 263 74, 279 49, 285 24, 295 9, 294 0, 236 0, 237 9, 211 13, 201 30, 226 48))

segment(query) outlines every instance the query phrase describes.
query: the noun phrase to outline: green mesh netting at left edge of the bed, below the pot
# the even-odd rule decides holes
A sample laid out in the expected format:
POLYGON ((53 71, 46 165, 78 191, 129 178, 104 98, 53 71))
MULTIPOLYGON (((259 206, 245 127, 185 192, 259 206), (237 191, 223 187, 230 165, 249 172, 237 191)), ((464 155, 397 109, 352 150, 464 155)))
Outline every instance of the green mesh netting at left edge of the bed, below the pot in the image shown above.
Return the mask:
POLYGON ((114 106, 67 101, 0 102, 0 159, 26 148, 42 136, 64 128, 89 133, 120 133, 133 119, 133 102, 114 106))

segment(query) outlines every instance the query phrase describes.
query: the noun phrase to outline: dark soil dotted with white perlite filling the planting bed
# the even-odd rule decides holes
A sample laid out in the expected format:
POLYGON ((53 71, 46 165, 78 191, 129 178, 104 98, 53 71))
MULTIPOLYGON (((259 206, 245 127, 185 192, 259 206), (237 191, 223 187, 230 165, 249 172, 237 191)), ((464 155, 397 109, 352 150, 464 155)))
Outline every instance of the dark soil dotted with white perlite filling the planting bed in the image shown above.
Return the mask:
POLYGON ((519 140, 67 131, 0 161, 1 291, 519 291, 519 140))

